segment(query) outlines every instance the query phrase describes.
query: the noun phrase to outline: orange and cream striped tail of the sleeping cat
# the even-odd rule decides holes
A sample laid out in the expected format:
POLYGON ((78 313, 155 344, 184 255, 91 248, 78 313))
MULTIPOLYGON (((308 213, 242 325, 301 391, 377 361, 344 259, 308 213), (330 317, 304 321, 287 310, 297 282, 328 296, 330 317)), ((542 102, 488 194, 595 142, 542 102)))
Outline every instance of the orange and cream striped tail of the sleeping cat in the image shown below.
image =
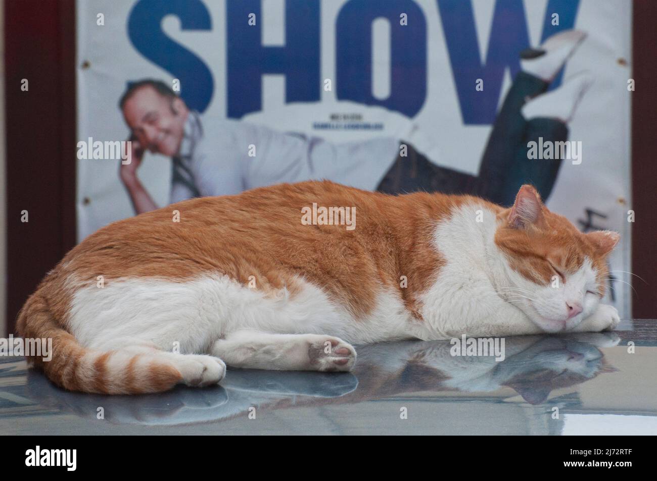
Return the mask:
POLYGON ((27 356, 28 362, 41 367, 53 383, 68 390, 141 394, 166 391, 183 381, 171 353, 127 348, 102 352, 81 346, 57 322, 39 291, 20 310, 16 327, 24 339, 52 341, 51 360, 43 360, 48 356, 34 356, 34 352, 26 352, 26 356, 33 354, 27 356))

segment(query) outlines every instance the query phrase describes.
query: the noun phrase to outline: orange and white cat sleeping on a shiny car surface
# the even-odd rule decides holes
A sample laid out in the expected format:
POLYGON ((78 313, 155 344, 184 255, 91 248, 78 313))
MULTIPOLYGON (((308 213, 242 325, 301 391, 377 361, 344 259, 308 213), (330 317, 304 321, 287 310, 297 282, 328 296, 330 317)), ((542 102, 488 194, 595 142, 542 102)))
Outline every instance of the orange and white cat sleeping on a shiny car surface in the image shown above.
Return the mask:
POLYGON ((281 184, 101 228, 47 274, 18 332, 53 339, 53 359, 30 362, 84 392, 212 385, 224 363, 348 371, 349 343, 614 329, 600 298, 618 239, 582 234, 528 185, 505 209, 281 184), (340 209, 315 215, 328 207, 353 228, 340 209))

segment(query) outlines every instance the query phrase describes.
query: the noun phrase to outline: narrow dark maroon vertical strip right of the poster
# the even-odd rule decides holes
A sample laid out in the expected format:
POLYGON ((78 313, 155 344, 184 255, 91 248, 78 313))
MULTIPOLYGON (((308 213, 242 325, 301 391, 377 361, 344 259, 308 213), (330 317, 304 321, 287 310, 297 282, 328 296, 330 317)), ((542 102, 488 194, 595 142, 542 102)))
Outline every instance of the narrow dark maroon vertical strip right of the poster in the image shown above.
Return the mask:
POLYGON ((657 1, 635 0, 632 75, 632 317, 657 318, 657 1))

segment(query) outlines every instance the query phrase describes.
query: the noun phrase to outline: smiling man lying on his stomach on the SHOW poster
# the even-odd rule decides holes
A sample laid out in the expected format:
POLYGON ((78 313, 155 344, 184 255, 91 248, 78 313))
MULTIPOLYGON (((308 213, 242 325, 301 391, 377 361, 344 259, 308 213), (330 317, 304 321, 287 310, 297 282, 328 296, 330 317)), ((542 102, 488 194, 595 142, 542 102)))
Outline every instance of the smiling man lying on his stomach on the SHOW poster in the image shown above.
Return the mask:
POLYGON ((133 161, 121 165, 120 178, 137 213, 158 207, 137 175, 145 150, 173 159, 171 203, 313 179, 388 194, 473 194, 502 205, 510 205, 520 185, 531 182, 547 199, 560 159, 528 159, 527 146, 539 139, 568 139, 567 124, 591 77, 579 73, 559 89, 547 90, 585 36, 564 31, 521 53, 522 70, 495 119, 478 176, 440 167, 399 138, 337 144, 244 121, 202 117, 164 82, 144 79, 131 84, 120 100, 133 149, 133 161))

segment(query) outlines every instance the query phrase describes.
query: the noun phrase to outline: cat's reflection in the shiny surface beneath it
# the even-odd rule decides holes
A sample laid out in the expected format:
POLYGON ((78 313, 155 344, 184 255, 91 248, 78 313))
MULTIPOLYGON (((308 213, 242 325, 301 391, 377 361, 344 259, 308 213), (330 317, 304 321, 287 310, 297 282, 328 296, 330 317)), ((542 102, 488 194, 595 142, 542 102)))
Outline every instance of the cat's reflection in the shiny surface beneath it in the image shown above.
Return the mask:
MULTIPOLYGON (((283 409, 357 403, 424 392, 494 392, 510 387, 526 402, 541 404, 556 388, 613 371, 600 348, 617 345, 614 333, 523 336, 505 340, 505 360, 450 354, 447 341, 404 341, 359 346, 353 373, 231 369, 223 385, 179 387, 146 396, 101 396, 66 392, 38 371, 28 374, 27 393, 44 407, 113 423, 196 423, 246 416, 251 407, 283 409)), ((508 397, 508 396, 507 396, 508 397)))

